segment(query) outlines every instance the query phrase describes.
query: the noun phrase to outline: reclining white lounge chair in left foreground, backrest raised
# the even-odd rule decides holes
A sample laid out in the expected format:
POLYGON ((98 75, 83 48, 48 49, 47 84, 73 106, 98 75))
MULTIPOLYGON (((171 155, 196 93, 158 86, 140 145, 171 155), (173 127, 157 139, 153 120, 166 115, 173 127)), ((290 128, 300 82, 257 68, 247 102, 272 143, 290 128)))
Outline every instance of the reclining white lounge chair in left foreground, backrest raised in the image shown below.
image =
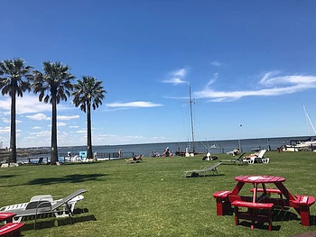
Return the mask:
MULTIPOLYGON (((33 216, 35 215, 35 223, 34 223, 34 229, 36 227, 36 219, 38 214, 58 214, 60 212, 65 212, 65 207, 67 208, 68 216, 71 218, 71 215, 73 215, 73 208, 70 206, 70 201, 83 193, 87 192, 87 190, 81 188, 77 190, 76 192, 70 194, 69 196, 66 196, 60 201, 56 202, 54 205, 51 205, 50 201, 38 201, 38 205, 33 206, 31 209, 17 209, 14 211, 16 214, 14 216, 14 223, 21 222, 22 218, 25 216, 33 216), (61 208, 61 209, 60 209, 61 208)), ((64 217, 65 215, 62 214, 56 215, 56 217, 64 217)))

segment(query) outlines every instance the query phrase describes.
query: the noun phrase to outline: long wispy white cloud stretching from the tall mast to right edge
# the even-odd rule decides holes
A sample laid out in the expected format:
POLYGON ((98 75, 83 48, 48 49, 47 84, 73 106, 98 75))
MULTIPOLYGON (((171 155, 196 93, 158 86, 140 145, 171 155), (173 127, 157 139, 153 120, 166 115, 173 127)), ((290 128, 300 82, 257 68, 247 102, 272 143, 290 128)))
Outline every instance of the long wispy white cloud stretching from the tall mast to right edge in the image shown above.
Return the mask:
POLYGON ((280 76, 278 72, 267 72, 259 81, 259 85, 265 88, 256 90, 216 91, 208 84, 203 90, 194 93, 197 98, 209 98, 212 102, 236 100, 245 96, 280 96, 293 94, 299 91, 316 88, 315 76, 280 76))

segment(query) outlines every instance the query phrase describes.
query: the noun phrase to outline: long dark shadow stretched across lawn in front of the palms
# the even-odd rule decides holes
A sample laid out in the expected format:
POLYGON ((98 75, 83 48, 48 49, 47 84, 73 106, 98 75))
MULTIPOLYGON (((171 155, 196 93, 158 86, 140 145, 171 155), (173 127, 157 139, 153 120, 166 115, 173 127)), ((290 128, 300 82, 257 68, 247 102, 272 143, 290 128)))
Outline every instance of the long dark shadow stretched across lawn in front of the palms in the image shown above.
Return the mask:
POLYGON ((100 177, 106 176, 105 174, 88 174, 88 175, 68 175, 60 178, 36 178, 29 182, 27 185, 52 185, 58 183, 81 183, 86 181, 98 181, 100 177))

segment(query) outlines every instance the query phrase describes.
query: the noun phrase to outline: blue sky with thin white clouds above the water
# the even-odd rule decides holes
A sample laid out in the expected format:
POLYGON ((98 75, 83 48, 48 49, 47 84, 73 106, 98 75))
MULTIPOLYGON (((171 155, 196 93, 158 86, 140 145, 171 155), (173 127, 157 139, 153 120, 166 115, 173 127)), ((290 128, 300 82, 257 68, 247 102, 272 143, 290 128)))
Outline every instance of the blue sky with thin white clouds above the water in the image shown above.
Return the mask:
MULTIPOLYGON (((308 135, 316 123, 315 1, 13 1, 1 4, 0 60, 61 61, 103 81, 93 144, 308 135), (242 126, 240 126, 242 124, 242 126)), ((86 144, 86 114, 58 106, 58 145, 86 144)), ((50 146, 51 105, 25 93, 18 147, 50 146)), ((9 145, 10 100, 0 96, 9 145)), ((311 134, 314 134, 312 132, 311 134)))

